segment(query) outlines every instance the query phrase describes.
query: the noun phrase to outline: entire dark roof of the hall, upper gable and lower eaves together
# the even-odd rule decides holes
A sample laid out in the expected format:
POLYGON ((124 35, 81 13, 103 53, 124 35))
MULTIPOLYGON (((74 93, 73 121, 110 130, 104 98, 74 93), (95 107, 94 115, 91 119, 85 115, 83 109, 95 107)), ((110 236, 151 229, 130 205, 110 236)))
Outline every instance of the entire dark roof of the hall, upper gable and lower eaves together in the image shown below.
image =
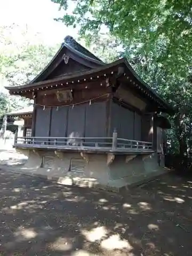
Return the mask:
MULTIPOLYGON (((66 56, 66 55, 65 55, 66 56)), ((69 63, 64 67, 69 67, 69 63), (68 66, 67 66, 68 65, 68 66)), ((72 63, 72 64, 73 64, 72 63)), ((73 66, 73 65, 72 65, 73 66)), ((24 95, 27 98, 33 98, 33 95, 37 90, 51 90, 60 89, 63 86, 76 85, 78 83, 85 83, 85 81, 96 81, 97 79, 106 79, 106 77, 117 76, 119 68, 123 68, 124 83, 127 86, 132 87, 142 98, 146 98, 151 102, 158 105, 162 111, 168 113, 173 112, 173 109, 167 102, 165 102, 151 87, 145 83, 137 73, 130 66, 129 62, 125 58, 114 61, 110 64, 102 62, 99 58, 95 57, 91 52, 86 50, 83 46, 78 44, 72 37, 67 36, 65 42, 61 45, 57 54, 55 54, 52 61, 47 67, 29 84, 21 86, 9 86, 6 87, 11 94, 24 95), (59 77, 50 78, 50 74, 56 69, 63 61, 63 54, 68 54, 70 59, 73 59, 73 63, 79 63, 79 69, 60 75, 59 77), (82 65, 82 66, 81 66, 82 65), (83 67, 81 69, 81 67, 83 67), (126 81, 125 81, 126 79, 126 81)), ((120 78, 119 78, 120 79, 120 78)), ((122 78, 121 78, 122 79, 122 78)), ((100 83, 98 84, 100 86, 100 83)))

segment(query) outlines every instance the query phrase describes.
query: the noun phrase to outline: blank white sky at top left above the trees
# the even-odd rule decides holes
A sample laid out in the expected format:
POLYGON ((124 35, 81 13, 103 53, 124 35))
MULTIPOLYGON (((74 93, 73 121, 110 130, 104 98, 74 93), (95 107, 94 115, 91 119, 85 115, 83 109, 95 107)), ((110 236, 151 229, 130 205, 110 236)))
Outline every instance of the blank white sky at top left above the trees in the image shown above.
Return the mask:
MULTIPOLYGON (((73 9, 73 6, 69 7, 73 9)), ((62 13, 59 5, 51 0, 0 0, 0 26, 27 25, 31 35, 38 33, 39 40, 47 45, 62 43, 66 35, 77 38, 76 29, 54 21, 54 18, 62 17, 62 13)))

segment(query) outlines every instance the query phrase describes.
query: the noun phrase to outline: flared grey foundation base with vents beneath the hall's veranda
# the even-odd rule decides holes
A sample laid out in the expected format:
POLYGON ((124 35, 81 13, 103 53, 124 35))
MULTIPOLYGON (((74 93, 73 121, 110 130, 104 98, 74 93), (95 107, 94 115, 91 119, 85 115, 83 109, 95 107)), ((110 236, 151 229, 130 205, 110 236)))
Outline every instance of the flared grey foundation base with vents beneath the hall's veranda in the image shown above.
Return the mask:
POLYGON ((163 168, 158 165, 156 154, 114 155, 17 150, 29 156, 27 163, 20 168, 22 172, 46 177, 65 185, 99 187, 117 191, 164 173, 163 168), (51 167, 43 167, 43 156, 51 157, 51 167), (75 161, 82 163, 80 169, 78 166, 71 166, 75 161))

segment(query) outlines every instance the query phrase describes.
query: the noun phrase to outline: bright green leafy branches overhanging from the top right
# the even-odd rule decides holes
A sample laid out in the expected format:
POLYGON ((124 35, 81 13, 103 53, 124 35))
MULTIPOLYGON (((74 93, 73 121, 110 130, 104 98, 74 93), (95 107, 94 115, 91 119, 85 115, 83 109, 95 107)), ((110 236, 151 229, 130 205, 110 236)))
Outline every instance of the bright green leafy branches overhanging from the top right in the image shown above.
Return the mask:
MULTIPOLYGON (((69 0, 52 1, 66 11, 70 6, 69 0)), ((76 1, 72 14, 66 12, 58 20, 68 26, 79 25, 79 33, 83 37, 87 34, 97 35, 106 27, 111 35, 123 43, 125 49, 131 47, 145 58, 148 58, 154 45, 158 45, 158 62, 180 76, 185 77, 191 66, 190 1, 81 0, 76 1)))

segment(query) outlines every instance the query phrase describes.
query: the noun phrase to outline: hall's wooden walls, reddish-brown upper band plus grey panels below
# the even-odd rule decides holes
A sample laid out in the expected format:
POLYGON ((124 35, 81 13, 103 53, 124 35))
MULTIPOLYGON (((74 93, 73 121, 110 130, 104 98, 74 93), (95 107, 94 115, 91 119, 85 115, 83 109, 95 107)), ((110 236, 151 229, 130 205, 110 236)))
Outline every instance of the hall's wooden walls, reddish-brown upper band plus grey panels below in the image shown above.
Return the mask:
POLYGON ((66 103, 58 101, 56 90, 38 93, 34 134, 36 137, 111 137, 116 128, 118 137, 152 141, 153 134, 149 134, 151 115, 144 116, 141 114, 142 111, 135 107, 119 106, 119 101, 114 102, 107 96, 110 95, 110 91, 106 86, 98 87, 96 82, 86 84, 86 89, 81 86, 85 85, 74 85, 73 101, 66 103), (94 87, 96 85, 97 90, 94 87), (89 99, 95 99, 100 95, 104 97, 93 100, 90 105, 89 99), (57 108, 59 105, 73 105, 82 101, 88 102, 74 107, 57 108), (49 105, 55 107, 46 107, 49 105))

